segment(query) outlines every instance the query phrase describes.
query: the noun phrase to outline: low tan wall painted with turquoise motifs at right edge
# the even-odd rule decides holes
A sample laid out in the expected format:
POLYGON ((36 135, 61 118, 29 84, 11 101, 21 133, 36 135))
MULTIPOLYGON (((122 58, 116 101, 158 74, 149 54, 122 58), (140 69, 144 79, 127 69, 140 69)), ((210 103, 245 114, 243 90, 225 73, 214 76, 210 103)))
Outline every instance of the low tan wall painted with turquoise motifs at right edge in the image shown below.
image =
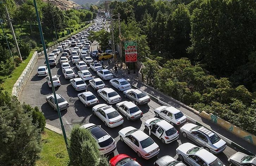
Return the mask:
POLYGON ((248 141, 253 145, 256 145, 256 136, 254 136, 253 134, 240 129, 239 127, 227 122, 226 120, 223 120, 218 116, 213 115, 212 113, 208 114, 205 111, 202 111, 200 114, 202 117, 211 120, 212 123, 217 124, 218 126, 223 127, 227 131, 232 132, 236 136, 248 141))

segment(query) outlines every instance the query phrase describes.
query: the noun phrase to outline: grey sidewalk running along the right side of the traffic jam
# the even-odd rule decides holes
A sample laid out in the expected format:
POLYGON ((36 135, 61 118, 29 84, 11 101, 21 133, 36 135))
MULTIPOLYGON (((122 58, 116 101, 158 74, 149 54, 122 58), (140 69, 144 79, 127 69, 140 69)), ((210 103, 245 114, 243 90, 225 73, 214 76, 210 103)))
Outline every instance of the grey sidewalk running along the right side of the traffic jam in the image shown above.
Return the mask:
MULTIPOLYGON (((174 106, 175 108, 182 110, 182 112, 185 115, 193 118, 198 123, 208 127, 209 129, 212 129, 212 130, 218 132, 222 136, 224 136, 227 139, 233 141, 234 143, 242 146, 243 148, 250 151, 251 153, 256 154, 256 146, 250 144, 249 142, 245 141, 242 138, 237 137, 235 134, 228 132, 227 130, 223 129, 222 127, 220 127, 216 124, 213 124, 209 120, 207 120, 203 117, 200 117, 200 116, 196 115, 195 113, 181 107, 179 104, 172 102, 170 97, 163 94, 162 92, 159 92, 159 91, 155 90, 154 88, 151 88, 148 85, 145 85, 144 83, 139 82, 138 81, 138 71, 136 71, 135 74, 133 74, 133 71, 131 71, 130 74, 128 74, 128 70, 127 70, 125 64, 123 64, 123 68, 120 68, 120 62, 118 62, 117 66, 118 66, 118 74, 115 74, 113 60, 111 60, 111 64, 109 66, 108 66, 108 64, 105 65, 105 68, 110 70, 114 75, 117 75, 117 77, 123 77, 123 78, 127 79, 127 81, 129 81, 135 87, 142 89, 143 91, 158 98, 159 100, 161 100, 167 104, 170 104, 171 106, 174 106)), ((233 148, 237 151, 241 151, 235 145, 233 145, 233 148)))

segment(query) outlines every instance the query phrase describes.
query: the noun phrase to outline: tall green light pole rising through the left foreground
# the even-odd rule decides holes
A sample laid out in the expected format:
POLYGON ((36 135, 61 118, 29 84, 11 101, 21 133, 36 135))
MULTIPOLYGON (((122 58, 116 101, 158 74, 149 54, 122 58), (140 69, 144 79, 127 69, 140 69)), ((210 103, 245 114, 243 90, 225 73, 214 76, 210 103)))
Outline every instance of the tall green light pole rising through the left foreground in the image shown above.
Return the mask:
MULTIPOLYGON (((48 57, 47 57, 47 52, 46 52, 46 47, 45 47, 45 43, 44 43, 44 36, 43 36, 42 26, 41 26, 41 22, 40 22, 38 10, 37 10, 37 3, 36 3, 36 0, 33 0, 33 1, 34 1, 35 9, 36 9, 36 16, 37 16, 37 21, 38 21, 38 28, 39 28, 39 32, 40 32, 40 37, 41 37, 41 41, 42 41, 42 45, 43 45, 43 49, 44 49, 45 61, 46 61, 46 65, 47 65, 47 67, 49 69, 48 73, 49 73, 50 81, 51 81, 51 84, 53 85, 50 65, 49 65, 49 61, 48 61, 48 57)), ((65 140, 65 144, 66 144, 66 147, 67 147, 67 151, 68 151, 68 154, 69 154, 68 139, 67 139, 67 135, 66 135, 66 132, 65 132, 64 125, 62 123, 61 112, 60 112, 59 104, 57 102, 55 88, 54 88, 54 86, 51 86, 51 88, 52 88, 52 93, 54 95, 54 101, 55 101, 56 106, 57 106, 57 112, 58 112, 58 116, 59 116, 60 123, 61 123, 62 134, 63 134, 64 140, 65 140)))

